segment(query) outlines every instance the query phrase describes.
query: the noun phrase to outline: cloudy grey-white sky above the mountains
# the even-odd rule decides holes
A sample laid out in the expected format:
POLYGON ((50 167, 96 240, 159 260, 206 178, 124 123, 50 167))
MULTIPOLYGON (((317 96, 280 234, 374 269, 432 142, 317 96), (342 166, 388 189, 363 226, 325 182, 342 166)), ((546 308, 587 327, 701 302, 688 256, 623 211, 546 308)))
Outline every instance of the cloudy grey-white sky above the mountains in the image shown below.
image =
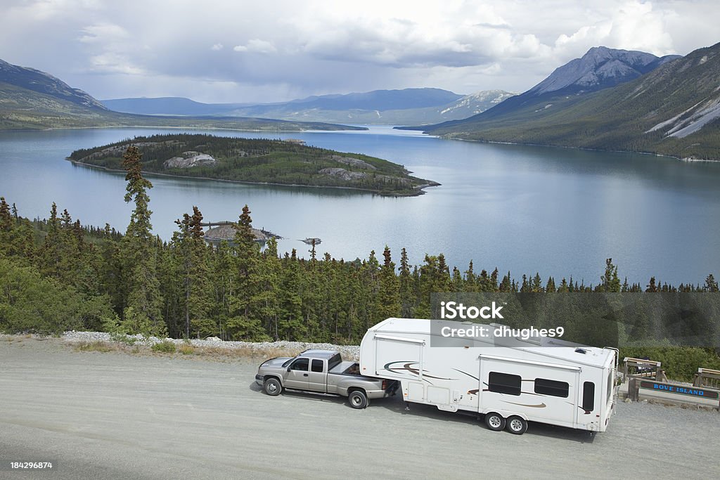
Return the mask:
POLYGON ((685 55, 718 0, 3 0, 0 58, 99 99, 524 91, 598 45, 685 55))

